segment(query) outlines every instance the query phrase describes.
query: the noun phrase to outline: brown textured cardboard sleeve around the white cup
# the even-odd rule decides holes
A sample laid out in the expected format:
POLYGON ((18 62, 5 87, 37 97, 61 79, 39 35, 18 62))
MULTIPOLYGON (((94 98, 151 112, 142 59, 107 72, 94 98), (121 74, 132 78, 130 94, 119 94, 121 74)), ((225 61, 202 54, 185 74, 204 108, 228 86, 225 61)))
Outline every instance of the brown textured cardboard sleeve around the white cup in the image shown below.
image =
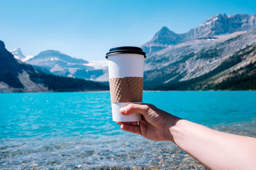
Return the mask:
POLYGON ((142 77, 109 78, 111 103, 141 102, 142 77))

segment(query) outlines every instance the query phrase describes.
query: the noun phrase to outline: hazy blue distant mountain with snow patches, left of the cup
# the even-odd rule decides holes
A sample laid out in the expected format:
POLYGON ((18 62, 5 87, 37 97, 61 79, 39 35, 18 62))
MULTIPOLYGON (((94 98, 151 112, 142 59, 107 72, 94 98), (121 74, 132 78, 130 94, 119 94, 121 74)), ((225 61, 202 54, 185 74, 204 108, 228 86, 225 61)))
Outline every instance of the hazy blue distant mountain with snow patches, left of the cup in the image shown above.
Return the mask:
POLYGON ((85 80, 108 81, 108 67, 106 62, 88 62, 87 60, 70 57, 56 50, 40 52, 29 64, 47 73, 58 76, 82 78, 85 80))

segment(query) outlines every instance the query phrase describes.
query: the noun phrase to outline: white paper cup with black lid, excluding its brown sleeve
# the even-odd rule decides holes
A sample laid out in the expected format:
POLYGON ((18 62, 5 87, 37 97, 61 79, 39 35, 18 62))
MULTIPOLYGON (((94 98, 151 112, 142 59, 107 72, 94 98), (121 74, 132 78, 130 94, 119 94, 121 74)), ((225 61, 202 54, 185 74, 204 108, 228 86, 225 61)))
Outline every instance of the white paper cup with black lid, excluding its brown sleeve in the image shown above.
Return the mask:
MULTIPOLYGON (((143 78, 143 66, 145 53, 141 48, 133 46, 122 46, 111 48, 106 55, 108 59, 108 71, 110 78, 143 78)), ((141 95, 142 95, 141 89, 141 95)), ((142 100, 142 96, 141 96, 142 100)), ((141 120, 139 113, 132 115, 122 115, 120 108, 127 106, 129 103, 140 103, 142 101, 129 101, 111 103, 113 121, 115 122, 136 122, 141 120)))

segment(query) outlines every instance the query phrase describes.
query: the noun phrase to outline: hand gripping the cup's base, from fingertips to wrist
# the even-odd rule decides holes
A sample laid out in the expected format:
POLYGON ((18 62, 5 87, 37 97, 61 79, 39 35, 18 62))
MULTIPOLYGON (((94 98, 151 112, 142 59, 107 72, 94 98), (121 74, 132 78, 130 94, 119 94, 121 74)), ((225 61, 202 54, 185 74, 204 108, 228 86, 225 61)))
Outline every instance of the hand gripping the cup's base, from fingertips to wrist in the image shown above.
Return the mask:
POLYGON ((138 122, 116 122, 124 131, 140 134, 153 141, 173 141, 170 127, 180 118, 159 110, 152 104, 129 104, 120 109, 122 115, 133 113, 141 114, 140 125, 138 122))

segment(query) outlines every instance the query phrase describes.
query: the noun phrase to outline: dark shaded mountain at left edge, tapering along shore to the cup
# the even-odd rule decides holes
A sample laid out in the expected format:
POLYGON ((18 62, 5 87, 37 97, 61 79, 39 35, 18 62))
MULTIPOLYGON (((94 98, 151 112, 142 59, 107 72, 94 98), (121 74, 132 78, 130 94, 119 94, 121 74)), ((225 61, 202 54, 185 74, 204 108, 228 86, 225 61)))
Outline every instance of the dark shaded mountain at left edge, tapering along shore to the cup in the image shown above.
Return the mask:
POLYGON ((0 41, 0 92, 63 92, 108 90, 94 81, 45 74, 30 64, 16 60, 0 41))

